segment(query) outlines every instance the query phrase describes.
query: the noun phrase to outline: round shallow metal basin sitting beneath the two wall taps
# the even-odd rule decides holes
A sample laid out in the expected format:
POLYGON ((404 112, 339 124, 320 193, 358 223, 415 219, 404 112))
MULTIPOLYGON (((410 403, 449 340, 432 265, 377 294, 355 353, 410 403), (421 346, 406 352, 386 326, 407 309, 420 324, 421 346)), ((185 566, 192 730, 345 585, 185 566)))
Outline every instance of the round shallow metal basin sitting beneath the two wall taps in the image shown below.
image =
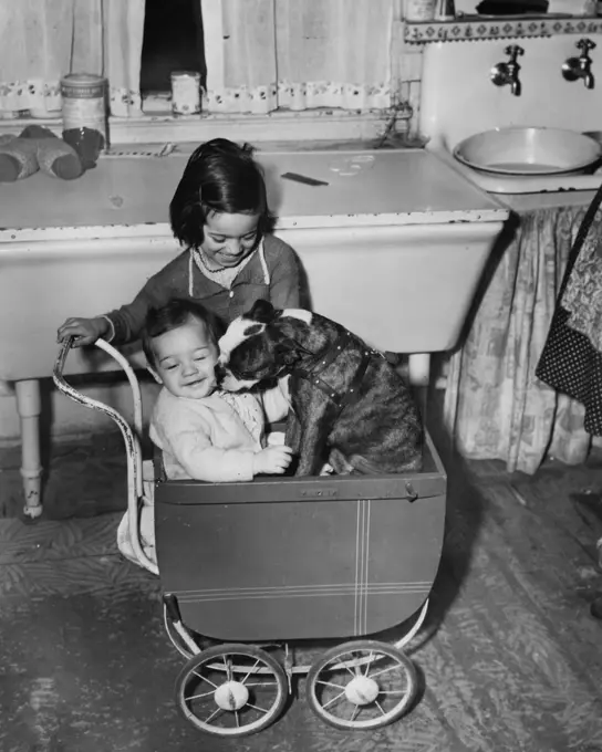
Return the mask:
POLYGON ((461 140, 458 161, 495 175, 575 174, 602 156, 599 142, 574 130, 542 127, 494 128, 461 140))

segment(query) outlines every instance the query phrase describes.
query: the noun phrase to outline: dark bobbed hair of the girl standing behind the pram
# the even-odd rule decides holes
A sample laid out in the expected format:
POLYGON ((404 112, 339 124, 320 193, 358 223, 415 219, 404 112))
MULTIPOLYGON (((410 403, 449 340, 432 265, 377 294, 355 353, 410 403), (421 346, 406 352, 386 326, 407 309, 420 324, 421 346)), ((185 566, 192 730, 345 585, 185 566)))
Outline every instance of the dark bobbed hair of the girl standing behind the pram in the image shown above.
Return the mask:
POLYGON ((169 203, 172 231, 181 246, 199 248, 207 215, 259 215, 257 244, 273 229, 266 181, 249 144, 227 138, 201 144, 188 159, 169 203))

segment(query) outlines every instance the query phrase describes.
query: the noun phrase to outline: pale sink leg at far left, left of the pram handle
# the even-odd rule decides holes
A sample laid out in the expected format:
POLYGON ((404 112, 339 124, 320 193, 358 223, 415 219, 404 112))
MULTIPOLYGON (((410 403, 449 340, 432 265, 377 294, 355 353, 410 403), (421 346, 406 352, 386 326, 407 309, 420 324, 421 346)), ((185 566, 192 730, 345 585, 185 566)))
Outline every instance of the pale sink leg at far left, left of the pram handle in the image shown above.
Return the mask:
POLYGON ((42 513, 42 462, 40 460, 40 412, 42 400, 40 382, 17 382, 17 411, 21 419, 21 478, 25 506, 23 513, 34 520, 42 513))

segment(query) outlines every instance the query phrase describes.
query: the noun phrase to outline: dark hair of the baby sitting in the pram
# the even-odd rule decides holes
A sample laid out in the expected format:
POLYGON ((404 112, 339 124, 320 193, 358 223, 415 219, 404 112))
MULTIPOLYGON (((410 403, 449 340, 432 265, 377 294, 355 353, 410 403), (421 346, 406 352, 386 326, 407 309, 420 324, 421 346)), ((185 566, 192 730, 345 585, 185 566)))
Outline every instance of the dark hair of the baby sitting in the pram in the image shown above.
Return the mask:
POLYGON ((149 366, 156 365, 153 340, 166 332, 184 326, 190 318, 205 324, 208 335, 217 347, 218 340, 225 331, 221 321, 211 311, 196 301, 186 297, 173 297, 165 305, 150 309, 146 314, 142 333, 142 347, 149 366))

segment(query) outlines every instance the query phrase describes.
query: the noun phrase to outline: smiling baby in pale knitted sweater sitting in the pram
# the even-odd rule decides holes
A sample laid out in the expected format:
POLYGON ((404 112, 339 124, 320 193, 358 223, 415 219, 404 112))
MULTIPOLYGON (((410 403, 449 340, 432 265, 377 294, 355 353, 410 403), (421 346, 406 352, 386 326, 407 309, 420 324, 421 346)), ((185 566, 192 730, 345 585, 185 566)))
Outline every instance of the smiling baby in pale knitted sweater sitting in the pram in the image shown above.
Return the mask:
POLYGON ((218 335, 216 317, 191 300, 174 299, 147 314, 143 347, 163 385, 150 439, 163 450, 167 478, 224 482, 283 473, 291 449, 264 447, 264 425, 283 419, 289 403, 279 387, 259 398, 219 389, 218 335))

